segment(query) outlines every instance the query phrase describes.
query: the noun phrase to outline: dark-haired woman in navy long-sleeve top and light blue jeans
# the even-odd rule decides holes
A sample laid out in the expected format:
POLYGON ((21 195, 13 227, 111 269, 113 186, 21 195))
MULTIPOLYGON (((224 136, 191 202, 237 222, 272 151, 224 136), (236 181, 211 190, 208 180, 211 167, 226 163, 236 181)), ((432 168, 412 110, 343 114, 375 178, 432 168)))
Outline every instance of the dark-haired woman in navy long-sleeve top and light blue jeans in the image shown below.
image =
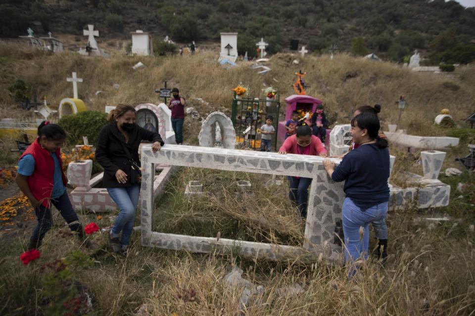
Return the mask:
POLYGON ((337 167, 330 159, 324 160, 332 180, 345 181, 342 221, 349 277, 356 273, 358 259, 368 259, 369 224, 383 221, 387 216, 389 151, 387 141, 378 135, 379 130, 376 114, 362 113, 354 117, 351 135, 359 147, 349 152, 337 167), (364 227, 363 238, 361 227, 364 227))

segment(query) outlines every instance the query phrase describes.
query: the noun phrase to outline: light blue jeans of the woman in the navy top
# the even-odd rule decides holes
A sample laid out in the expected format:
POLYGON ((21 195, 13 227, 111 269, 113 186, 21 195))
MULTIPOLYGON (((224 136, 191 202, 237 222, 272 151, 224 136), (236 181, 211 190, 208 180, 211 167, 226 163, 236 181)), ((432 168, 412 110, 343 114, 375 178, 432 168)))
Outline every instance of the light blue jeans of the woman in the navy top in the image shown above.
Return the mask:
MULTIPOLYGON (((372 222, 381 222, 387 216, 388 202, 372 206, 364 212, 353 203, 351 198, 346 197, 343 202, 343 232, 345 234, 345 262, 350 264, 360 258, 368 259, 370 242, 369 225, 372 222), (364 229, 364 235, 360 237, 360 227, 364 229)), ((387 229, 386 229, 387 238, 387 229)), ((382 239, 382 238, 381 238, 382 239)), ((356 269, 350 273, 353 275, 356 269)))

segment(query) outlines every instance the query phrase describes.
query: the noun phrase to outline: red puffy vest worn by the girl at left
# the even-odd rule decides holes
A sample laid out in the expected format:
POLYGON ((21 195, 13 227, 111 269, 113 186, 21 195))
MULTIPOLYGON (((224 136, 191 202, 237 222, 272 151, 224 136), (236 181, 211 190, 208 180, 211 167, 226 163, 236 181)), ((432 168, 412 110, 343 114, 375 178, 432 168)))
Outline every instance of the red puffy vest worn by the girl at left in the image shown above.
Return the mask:
MULTIPOLYGON (((41 147, 38 141, 39 138, 37 138, 33 144, 28 146, 20 159, 29 154, 35 158, 35 170, 33 171, 33 174, 28 177, 28 186, 30 187, 33 196, 37 200, 42 201, 42 204, 45 207, 49 208, 49 199, 51 198, 54 185, 54 159, 46 149, 41 147)), ((55 154, 61 168, 63 184, 66 186, 68 180, 63 172, 63 162, 61 160, 60 152, 61 149, 58 148, 55 154)))

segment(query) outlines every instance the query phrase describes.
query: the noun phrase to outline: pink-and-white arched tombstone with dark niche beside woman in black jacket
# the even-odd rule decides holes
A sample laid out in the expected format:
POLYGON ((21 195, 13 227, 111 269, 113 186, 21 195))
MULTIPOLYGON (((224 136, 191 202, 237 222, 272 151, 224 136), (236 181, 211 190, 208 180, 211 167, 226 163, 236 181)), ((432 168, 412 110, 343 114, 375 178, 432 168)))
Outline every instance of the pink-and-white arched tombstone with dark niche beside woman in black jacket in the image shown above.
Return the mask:
POLYGON ((175 132, 172 128, 172 111, 160 103, 143 103, 135 107, 137 111, 137 123, 149 130, 155 128, 166 144, 175 142, 175 132))

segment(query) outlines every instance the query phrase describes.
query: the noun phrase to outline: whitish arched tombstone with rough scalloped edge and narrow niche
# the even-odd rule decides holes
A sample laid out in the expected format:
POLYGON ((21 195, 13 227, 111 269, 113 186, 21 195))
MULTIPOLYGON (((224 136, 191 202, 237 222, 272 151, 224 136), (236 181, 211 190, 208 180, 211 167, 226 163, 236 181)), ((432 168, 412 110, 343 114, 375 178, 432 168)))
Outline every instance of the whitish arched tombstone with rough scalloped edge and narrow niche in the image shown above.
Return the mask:
POLYGON ((199 146, 214 147, 216 137, 213 134, 216 131, 216 123, 221 130, 221 141, 223 148, 234 149, 236 145, 236 131, 233 122, 221 112, 213 112, 201 124, 201 130, 198 134, 199 146))

